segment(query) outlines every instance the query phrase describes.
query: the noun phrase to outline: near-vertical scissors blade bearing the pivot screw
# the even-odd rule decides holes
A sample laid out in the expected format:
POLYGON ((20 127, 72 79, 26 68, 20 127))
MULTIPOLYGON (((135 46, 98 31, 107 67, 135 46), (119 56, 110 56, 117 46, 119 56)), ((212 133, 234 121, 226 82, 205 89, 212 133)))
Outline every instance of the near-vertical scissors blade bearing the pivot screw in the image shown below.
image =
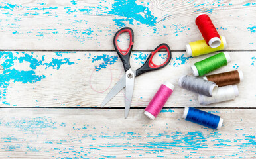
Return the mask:
POLYGON ((127 118, 131 107, 131 99, 133 98, 135 73, 130 68, 125 75, 125 118, 127 118))

